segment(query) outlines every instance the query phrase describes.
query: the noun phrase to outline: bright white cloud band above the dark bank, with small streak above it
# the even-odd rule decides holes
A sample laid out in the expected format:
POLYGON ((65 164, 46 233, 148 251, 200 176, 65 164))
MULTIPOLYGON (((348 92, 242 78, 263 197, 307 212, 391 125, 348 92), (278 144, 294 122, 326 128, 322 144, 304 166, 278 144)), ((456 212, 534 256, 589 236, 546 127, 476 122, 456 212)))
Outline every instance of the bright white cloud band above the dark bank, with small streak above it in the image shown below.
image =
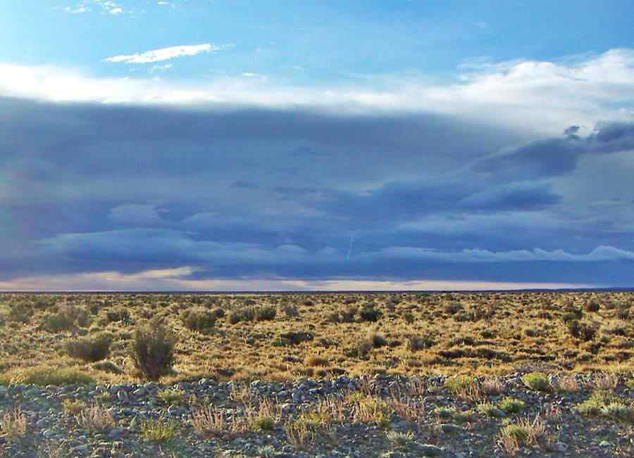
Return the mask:
MULTIPOLYGON (((107 60, 152 63, 211 52, 225 46, 173 46, 107 60)), ((471 63, 462 80, 432 84, 424 79, 373 77, 354 87, 299 87, 271 79, 217 77, 178 83, 154 78, 101 78, 51 67, 0 64, 0 95, 49 101, 106 103, 249 103, 316 106, 367 112, 431 111, 560 134, 571 124, 590 129, 598 120, 634 120, 634 49, 614 49, 561 63, 471 63), (376 89, 380 86, 387 89, 376 89)), ((583 131, 582 129, 582 131, 583 131)))

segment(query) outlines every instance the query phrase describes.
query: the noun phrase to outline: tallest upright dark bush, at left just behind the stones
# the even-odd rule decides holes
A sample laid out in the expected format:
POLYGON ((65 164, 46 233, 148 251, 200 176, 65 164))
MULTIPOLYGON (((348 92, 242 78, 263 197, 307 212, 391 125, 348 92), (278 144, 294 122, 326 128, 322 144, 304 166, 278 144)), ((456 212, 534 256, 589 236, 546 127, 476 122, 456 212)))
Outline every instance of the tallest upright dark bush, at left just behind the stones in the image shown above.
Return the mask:
POLYGON ((139 326, 132 343, 135 367, 150 381, 170 373, 174 364, 176 338, 159 322, 139 326))

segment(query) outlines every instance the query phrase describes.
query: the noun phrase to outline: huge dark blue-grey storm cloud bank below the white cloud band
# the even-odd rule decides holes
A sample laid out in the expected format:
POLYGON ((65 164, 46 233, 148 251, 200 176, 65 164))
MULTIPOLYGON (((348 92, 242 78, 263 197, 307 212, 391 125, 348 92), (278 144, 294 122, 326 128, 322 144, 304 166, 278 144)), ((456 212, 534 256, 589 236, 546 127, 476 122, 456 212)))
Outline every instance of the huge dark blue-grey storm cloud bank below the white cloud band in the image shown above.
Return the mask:
POLYGON ((556 180, 633 148, 633 125, 535 139, 428 113, 7 98, 0 117, 4 279, 189 265, 197 278, 590 281, 571 263, 613 262, 605 279, 621 279, 631 262, 610 246, 627 237, 611 207, 556 180))

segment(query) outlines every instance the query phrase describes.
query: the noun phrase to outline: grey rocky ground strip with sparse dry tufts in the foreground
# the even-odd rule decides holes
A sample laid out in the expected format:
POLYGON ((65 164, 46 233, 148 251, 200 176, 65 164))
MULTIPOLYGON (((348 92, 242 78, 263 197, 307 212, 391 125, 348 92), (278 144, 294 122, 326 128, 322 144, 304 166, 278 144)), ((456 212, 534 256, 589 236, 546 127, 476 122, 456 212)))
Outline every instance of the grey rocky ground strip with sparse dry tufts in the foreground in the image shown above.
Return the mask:
POLYGON ((340 376, 294 383, 253 381, 250 385, 201 379, 177 386, 0 386, 0 417, 4 414, 0 454, 121 458, 466 458, 505 457, 509 452, 530 457, 634 456, 631 417, 588 416, 578 408, 597 387, 611 391, 624 405, 631 406, 634 389, 627 387, 630 384, 626 384, 626 378, 606 382, 596 381, 596 374, 577 374, 568 378, 568 390, 562 390, 554 389, 558 386, 557 375, 551 375, 549 386, 542 391, 526 386, 521 376, 500 377, 499 390, 489 390, 489 394, 480 389, 485 386, 478 380, 473 385, 479 387, 477 393, 452 390, 444 376, 340 376), (497 407, 509 397, 523 402, 518 412, 497 407), (260 419, 242 429, 236 426, 263 400, 270 400, 273 406, 268 411, 270 423, 260 419), (314 409, 324 400, 333 401, 331 410, 319 416, 314 409), (373 406, 392 407, 372 410, 363 417, 359 406, 367 407, 368 400, 373 406), (342 407, 337 413, 337 407, 332 407, 348 406, 347 402, 353 402, 349 410, 342 407), (485 402, 490 409, 484 409, 485 402), (111 421, 100 426, 99 421, 86 420, 89 406, 95 403, 104 407, 102 413, 111 414, 111 421), (17 417, 26 420, 21 433, 11 433, 7 423, 15 420, 11 415, 16 406, 21 412, 17 417), (194 414, 209 406, 221 413, 225 426, 220 429, 224 431, 201 433, 194 427, 194 414), (301 423, 298 419, 302 412, 304 419, 310 416, 311 421, 306 423, 309 431, 304 440, 297 440, 290 426, 301 423), (515 451, 508 447, 504 450, 502 429, 521 424, 522 419, 534 421, 536 416, 543 426, 538 437, 522 438, 515 451))

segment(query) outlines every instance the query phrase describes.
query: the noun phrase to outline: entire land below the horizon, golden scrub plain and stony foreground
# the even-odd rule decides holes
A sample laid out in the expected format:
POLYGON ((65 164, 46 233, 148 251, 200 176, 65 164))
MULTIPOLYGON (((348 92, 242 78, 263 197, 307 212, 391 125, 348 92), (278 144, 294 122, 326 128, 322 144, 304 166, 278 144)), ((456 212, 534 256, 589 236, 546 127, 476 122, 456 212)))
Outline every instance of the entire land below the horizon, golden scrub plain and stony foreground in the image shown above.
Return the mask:
POLYGON ((5 294, 0 456, 631 457, 633 299, 5 294))

